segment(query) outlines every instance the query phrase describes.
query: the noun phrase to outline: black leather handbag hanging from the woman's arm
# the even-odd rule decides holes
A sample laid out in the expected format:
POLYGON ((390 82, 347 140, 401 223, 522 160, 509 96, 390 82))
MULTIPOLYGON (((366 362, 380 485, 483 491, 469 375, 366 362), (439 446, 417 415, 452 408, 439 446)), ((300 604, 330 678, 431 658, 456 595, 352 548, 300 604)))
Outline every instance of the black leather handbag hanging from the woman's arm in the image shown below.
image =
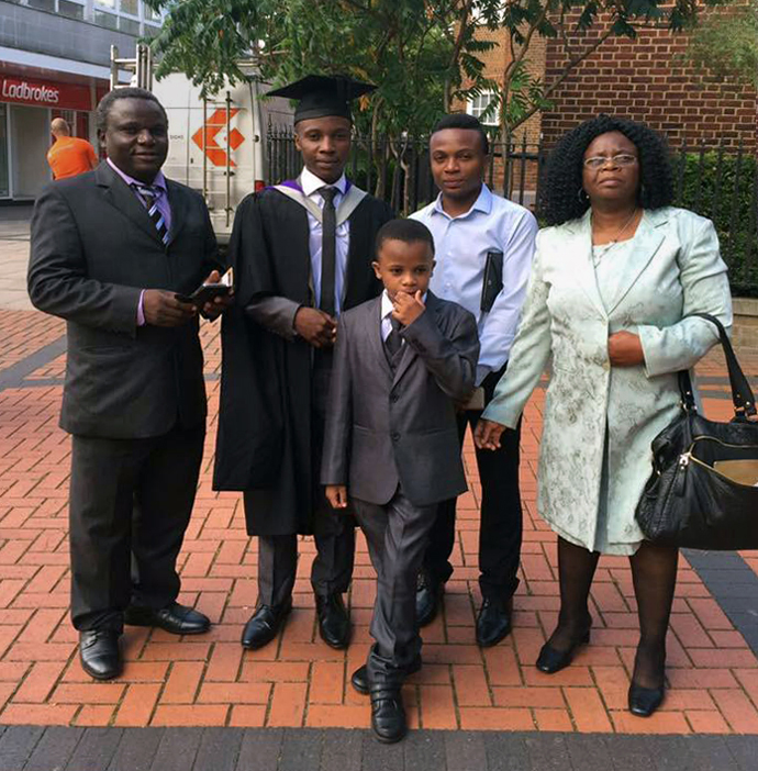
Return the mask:
POLYGON ((653 473, 635 516, 645 537, 693 549, 758 548, 758 423, 753 391, 717 319, 735 416, 698 413, 689 372, 679 373, 681 414, 653 440, 653 473))

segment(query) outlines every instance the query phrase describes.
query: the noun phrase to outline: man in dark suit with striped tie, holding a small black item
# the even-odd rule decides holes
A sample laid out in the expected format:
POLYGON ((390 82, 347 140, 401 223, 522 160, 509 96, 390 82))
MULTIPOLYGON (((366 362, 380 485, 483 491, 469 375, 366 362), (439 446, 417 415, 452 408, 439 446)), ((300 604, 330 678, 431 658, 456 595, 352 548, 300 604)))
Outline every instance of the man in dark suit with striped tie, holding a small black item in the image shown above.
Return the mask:
POLYGON ((97 121, 107 160, 36 202, 29 294, 67 321, 71 619, 85 671, 107 680, 121 671, 124 622, 180 635, 210 626, 176 602, 207 412, 198 309, 177 294, 219 275, 202 197, 160 172, 157 99, 111 91, 97 121))

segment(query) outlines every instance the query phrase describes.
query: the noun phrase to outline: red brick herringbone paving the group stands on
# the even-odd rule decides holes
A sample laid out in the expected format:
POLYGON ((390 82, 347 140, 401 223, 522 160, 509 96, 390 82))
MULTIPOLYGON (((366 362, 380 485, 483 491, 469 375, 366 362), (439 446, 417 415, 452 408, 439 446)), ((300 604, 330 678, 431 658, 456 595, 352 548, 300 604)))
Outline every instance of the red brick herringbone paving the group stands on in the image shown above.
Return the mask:
MULTIPOLYGON (((63 325, 32 312, 0 312, 5 342, 1 370, 57 339, 63 325)), ((203 327, 208 372, 218 372, 214 326, 203 327)), ((369 645, 374 576, 363 537, 350 592, 355 624, 348 651, 334 651, 316 634, 302 541, 294 611, 280 640, 243 652, 242 627, 256 599, 256 543, 244 532, 238 495, 211 490, 210 468, 218 405, 208 383, 209 437, 191 526, 180 556, 181 601, 214 622, 201 638, 127 627, 126 667, 110 683, 92 682, 77 660, 68 624, 68 437, 57 427, 62 389, 33 387, 59 378, 63 358, 41 367, 30 387, 0 391, 0 723, 80 726, 335 726, 365 727, 368 702, 349 675, 369 645)), ((758 357, 746 359, 758 373, 758 357)), ((712 356, 702 373, 724 377, 712 356)), ((722 386, 707 386, 725 390, 722 386)), ((650 719, 626 712, 636 642, 628 562, 603 558, 592 591, 592 645, 557 675, 534 666, 558 610, 555 536, 535 511, 536 459, 544 396, 525 414, 522 491, 525 504, 522 584, 513 635, 480 650, 473 644, 477 585, 477 505, 480 488, 470 440, 465 459, 471 492, 461 498, 456 572, 445 612, 424 629, 425 667, 405 688, 411 724, 425 728, 544 731, 758 734, 758 661, 685 560, 669 634, 671 689, 650 719)), ((707 400, 724 418, 729 403, 707 400)), ((758 569, 758 559, 745 555, 758 569)))

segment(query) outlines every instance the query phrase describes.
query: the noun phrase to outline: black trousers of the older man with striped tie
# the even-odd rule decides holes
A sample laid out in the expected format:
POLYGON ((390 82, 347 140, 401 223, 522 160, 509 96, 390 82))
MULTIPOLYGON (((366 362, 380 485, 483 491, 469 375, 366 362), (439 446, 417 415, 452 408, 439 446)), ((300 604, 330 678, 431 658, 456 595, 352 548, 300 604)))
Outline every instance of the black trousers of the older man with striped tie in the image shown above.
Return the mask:
POLYGON ((69 543, 71 621, 121 632, 130 604, 179 594, 176 560, 200 473, 204 423, 147 439, 74 436, 69 543))

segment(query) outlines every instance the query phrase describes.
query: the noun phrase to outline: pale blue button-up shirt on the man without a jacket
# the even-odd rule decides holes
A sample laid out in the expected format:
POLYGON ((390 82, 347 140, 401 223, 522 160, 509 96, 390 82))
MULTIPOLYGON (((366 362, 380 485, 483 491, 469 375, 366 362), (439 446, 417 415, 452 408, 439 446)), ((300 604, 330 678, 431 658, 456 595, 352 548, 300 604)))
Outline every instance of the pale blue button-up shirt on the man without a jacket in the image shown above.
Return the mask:
POLYGON ((470 311, 477 320, 481 350, 477 386, 508 361, 526 297, 537 221, 524 206, 490 192, 487 185, 471 209, 450 216, 442 193, 411 214, 434 236, 436 267, 430 289, 470 311), (503 289, 488 313, 481 311, 481 290, 488 252, 503 253, 503 289))

